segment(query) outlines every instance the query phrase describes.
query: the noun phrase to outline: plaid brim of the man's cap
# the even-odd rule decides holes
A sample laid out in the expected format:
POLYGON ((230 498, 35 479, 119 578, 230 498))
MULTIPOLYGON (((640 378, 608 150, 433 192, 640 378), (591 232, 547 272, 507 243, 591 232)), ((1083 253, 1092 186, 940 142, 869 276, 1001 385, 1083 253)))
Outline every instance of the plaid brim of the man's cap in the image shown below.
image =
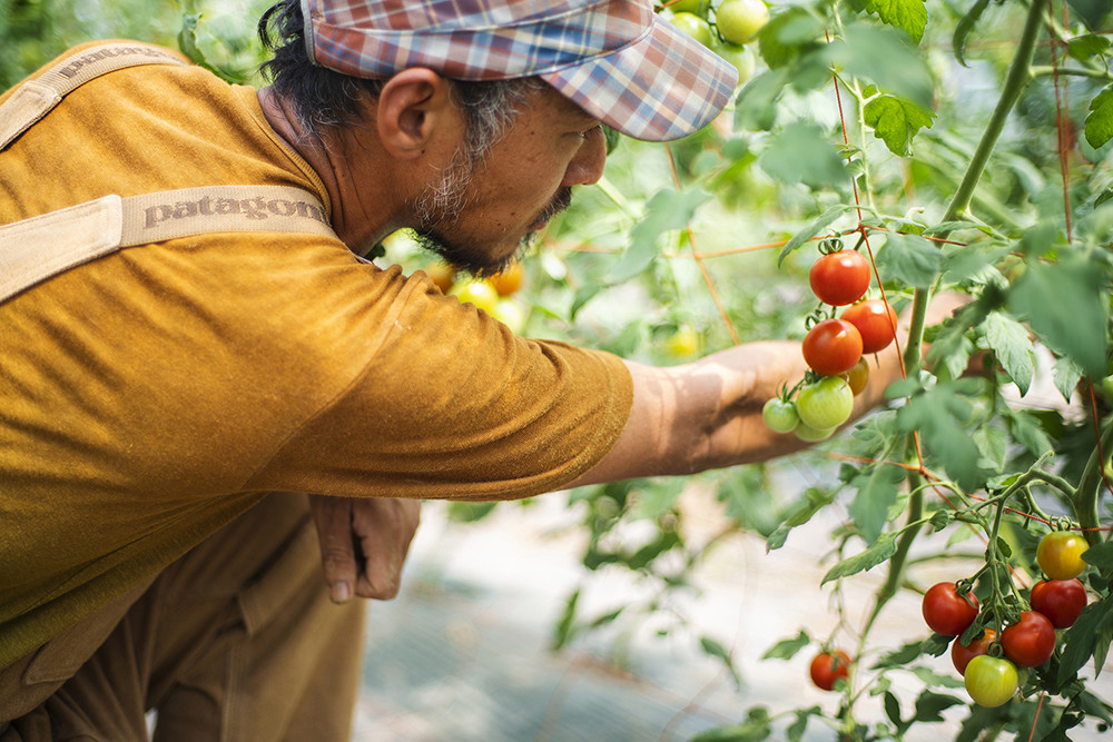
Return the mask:
POLYGON ((699 131, 727 106, 738 70, 660 16, 605 57, 540 76, 622 133, 668 141, 699 131))

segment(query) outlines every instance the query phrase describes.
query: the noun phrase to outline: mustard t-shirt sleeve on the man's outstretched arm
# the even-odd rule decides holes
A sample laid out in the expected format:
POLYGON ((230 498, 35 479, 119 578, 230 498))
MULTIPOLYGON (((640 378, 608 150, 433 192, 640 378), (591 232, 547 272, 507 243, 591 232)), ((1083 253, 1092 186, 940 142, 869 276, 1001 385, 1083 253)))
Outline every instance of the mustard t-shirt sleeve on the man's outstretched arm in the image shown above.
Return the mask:
POLYGON ((573 481, 618 441, 633 397, 621 359, 516 337, 422 274, 381 278, 401 284, 388 309, 364 318, 370 359, 246 488, 529 497, 573 481))

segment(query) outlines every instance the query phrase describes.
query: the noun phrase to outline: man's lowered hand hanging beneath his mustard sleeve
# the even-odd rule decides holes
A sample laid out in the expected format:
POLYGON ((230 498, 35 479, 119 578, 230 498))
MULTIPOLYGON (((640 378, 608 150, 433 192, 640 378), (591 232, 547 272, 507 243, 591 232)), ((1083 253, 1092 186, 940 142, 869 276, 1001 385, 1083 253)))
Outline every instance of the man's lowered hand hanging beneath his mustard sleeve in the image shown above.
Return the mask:
POLYGON ((335 603, 352 595, 390 600, 421 521, 421 501, 312 495, 321 563, 335 603))

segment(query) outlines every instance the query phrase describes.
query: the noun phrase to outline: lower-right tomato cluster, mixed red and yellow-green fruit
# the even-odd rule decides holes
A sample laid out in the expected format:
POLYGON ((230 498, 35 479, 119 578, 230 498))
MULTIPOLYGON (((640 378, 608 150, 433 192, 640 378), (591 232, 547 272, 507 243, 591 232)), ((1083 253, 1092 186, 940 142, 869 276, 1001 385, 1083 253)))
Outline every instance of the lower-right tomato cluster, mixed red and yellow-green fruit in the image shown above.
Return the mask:
POLYGON ((1056 630, 1074 625, 1086 607, 1086 588, 1077 580, 1086 568, 1085 550, 1085 540, 1066 531, 1041 540, 1036 562, 1047 578, 1032 586, 1031 610, 998 627, 999 636, 997 630, 982 626, 981 634, 962 643, 981 609, 969 585, 940 582, 924 594, 924 621, 935 633, 955 637, 951 661, 975 703, 989 708, 1006 703, 1021 682, 1017 669, 1038 667, 1055 653, 1056 630))

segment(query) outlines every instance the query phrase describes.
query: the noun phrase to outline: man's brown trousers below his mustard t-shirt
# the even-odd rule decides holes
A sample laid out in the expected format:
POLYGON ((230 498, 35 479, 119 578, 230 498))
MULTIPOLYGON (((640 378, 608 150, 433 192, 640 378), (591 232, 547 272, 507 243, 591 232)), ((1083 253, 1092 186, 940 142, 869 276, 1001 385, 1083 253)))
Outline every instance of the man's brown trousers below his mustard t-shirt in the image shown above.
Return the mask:
POLYGON ((0 742, 348 739, 364 604, 329 602, 319 565, 305 496, 269 495, 0 671, 0 742))

